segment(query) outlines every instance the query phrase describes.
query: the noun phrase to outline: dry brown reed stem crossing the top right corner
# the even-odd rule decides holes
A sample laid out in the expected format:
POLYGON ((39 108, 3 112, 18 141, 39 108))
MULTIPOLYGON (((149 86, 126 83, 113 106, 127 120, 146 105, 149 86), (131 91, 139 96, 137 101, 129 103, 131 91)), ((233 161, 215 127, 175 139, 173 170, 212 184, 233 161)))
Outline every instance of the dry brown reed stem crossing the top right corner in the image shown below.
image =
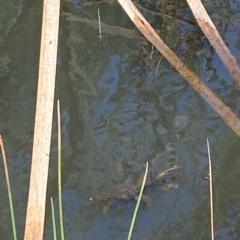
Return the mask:
POLYGON ((237 86, 240 87, 240 68, 237 61, 222 40, 211 18, 202 5, 201 0, 187 0, 187 2, 203 33, 216 50, 237 86))

